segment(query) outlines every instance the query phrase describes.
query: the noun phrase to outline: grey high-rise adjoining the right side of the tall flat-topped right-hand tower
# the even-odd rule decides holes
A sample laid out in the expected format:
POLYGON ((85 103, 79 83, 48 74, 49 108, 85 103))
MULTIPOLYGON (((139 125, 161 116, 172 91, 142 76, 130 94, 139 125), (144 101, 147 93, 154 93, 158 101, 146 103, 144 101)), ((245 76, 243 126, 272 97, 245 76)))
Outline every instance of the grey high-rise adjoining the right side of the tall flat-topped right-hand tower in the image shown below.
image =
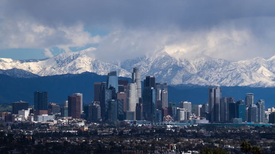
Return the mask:
POLYGON ((229 103, 235 102, 233 97, 222 97, 220 99, 220 120, 223 122, 229 121, 229 103))

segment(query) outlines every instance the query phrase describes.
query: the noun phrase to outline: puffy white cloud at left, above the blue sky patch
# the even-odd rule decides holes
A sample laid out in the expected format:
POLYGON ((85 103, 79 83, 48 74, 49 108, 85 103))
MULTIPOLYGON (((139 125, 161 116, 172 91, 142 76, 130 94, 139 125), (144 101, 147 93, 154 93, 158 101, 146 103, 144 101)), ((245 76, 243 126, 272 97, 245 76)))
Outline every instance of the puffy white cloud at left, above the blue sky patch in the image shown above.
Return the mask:
POLYGON ((92 37, 82 23, 72 26, 50 27, 35 21, 5 19, 0 22, 0 48, 53 48, 71 52, 70 47, 99 43, 100 36, 92 37))

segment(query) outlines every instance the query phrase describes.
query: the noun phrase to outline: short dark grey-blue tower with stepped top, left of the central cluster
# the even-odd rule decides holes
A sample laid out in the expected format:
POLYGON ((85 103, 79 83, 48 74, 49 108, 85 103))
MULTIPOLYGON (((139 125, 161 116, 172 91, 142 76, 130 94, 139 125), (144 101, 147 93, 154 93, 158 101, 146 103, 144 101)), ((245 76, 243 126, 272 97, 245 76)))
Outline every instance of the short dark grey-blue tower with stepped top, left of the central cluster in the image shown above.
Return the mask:
POLYGON ((98 122, 101 119, 101 108, 99 102, 92 102, 88 106, 88 118, 89 121, 98 122))

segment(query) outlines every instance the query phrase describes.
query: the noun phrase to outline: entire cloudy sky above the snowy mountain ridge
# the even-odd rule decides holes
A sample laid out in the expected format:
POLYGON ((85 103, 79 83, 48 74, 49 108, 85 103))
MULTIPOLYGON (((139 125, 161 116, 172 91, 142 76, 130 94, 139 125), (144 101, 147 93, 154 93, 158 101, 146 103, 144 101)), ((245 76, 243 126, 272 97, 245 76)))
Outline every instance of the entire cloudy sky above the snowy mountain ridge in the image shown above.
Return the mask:
POLYGON ((166 51, 229 61, 275 55, 275 1, 0 1, 0 57, 42 59, 89 47, 123 61, 166 51))

